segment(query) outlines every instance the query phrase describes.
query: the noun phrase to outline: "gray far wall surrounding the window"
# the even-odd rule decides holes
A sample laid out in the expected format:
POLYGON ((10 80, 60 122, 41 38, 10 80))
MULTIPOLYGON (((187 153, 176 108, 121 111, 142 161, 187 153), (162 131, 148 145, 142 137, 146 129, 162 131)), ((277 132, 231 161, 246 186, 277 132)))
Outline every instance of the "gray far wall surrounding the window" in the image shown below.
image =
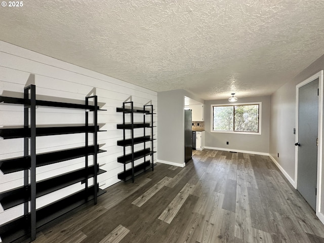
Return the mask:
POLYGON ((270 96, 242 98, 236 103, 262 102, 261 135, 211 132, 211 105, 233 104, 228 100, 208 100, 205 105, 205 147, 269 153, 270 96), (226 142, 229 142, 226 145, 226 142))

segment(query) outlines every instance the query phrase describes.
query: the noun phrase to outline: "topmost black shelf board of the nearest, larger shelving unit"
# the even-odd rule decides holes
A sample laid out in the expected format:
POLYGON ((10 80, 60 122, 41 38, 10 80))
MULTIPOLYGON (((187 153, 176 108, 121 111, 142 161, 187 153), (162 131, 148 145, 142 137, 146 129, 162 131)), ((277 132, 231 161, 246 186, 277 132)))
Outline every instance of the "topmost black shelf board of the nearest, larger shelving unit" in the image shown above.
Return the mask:
MULTIPOLYGON (((6 104, 21 104, 21 105, 30 105, 30 100, 25 100, 23 98, 13 98, 0 96, 0 103, 6 104)), ((73 104, 73 103, 65 103, 65 102, 56 102, 56 101, 46 101, 46 100, 36 100, 37 106, 48 106, 48 107, 59 107, 59 108, 72 108, 72 109, 89 109, 94 110, 94 105, 83 105, 83 104, 73 104)), ((99 110, 99 106, 97 106, 99 110)))

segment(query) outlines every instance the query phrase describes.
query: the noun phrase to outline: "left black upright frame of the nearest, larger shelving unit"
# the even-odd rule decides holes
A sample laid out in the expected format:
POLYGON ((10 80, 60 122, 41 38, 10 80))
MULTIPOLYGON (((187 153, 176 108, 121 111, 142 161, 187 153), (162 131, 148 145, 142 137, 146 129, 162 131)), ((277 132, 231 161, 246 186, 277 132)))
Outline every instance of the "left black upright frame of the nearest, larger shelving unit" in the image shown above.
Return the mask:
MULTIPOLYGON (((28 100, 30 90, 30 239, 36 238, 36 86, 30 85, 24 90, 24 99, 28 100)), ((24 106, 24 128, 28 129, 28 108, 24 106), (26 114, 27 113, 27 114, 26 114)), ((24 155, 28 156, 28 138, 24 139, 24 155), (27 150, 26 150, 27 149, 27 150)), ((28 170, 24 172, 24 185, 28 185, 28 170), (27 184, 26 184, 27 183, 27 184)), ((28 212, 28 203, 24 204, 24 214, 28 212)))

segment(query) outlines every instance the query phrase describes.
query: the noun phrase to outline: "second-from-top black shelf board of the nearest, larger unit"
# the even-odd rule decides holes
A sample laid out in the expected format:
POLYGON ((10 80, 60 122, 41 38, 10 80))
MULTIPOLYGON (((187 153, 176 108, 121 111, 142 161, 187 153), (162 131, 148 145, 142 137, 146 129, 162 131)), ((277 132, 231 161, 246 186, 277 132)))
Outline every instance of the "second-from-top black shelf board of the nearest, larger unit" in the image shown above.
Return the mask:
MULTIPOLYGON (((97 126, 98 132, 99 126, 97 126)), ((51 127, 51 128, 36 128, 36 136, 50 136, 60 134, 75 134, 75 133, 94 133, 95 126, 74 126, 74 127, 51 127)), ((0 137, 3 139, 12 138, 29 138, 30 128, 7 128, 0 129, 0 137)))

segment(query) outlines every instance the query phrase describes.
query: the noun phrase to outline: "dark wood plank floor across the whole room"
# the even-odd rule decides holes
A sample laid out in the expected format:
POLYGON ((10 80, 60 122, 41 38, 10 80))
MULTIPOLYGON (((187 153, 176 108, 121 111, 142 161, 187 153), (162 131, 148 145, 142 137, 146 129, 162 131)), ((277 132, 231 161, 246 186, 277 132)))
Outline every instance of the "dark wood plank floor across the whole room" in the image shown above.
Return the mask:
POLYGON ((324 242, 324 226, 268 156, 194 151, 45 227, 34 242, 324 242))

